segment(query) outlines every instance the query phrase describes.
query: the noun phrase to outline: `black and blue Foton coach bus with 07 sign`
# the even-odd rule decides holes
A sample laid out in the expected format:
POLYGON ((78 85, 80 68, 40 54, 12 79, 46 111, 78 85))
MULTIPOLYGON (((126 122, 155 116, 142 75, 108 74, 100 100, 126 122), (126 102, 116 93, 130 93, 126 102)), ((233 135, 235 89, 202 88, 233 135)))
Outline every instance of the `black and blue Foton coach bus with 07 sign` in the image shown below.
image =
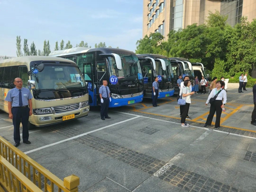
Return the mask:
POLYGON ((141 102, 142 70, 135 53, 116 48, 71 48, 57 50, 50 56, 74 61, 81 69, 89 90, 90 106, 101 105, 99 87, 107 80, 112 101, 109 107, 141 102))

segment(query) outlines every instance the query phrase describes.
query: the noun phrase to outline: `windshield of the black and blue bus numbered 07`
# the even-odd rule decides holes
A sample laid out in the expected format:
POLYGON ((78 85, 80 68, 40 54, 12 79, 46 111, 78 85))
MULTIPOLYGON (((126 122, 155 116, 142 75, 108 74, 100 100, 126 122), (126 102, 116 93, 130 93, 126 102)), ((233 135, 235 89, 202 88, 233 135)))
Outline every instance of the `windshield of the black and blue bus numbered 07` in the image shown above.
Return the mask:
POLYGON ((140 68, 139 59, 136 55, 130 53, 116 53, 121 57, 122 69, 118 70, 113 57, 108 57, 109 74, 114 75, 119 80, 139 80, 142 81, 142 70, 140 68))

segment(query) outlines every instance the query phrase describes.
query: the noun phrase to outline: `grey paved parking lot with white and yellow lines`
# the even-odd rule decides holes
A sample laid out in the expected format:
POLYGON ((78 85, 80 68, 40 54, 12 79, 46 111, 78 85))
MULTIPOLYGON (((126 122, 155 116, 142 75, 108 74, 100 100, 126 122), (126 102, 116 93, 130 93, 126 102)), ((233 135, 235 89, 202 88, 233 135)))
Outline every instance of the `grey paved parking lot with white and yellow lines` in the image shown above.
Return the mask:
MULTIPOLYGON (((147 99, 111 109, 105 121, 92 109, 88 117, 30 130, 31 144, 18 148, 61 179, 79 176, 79 191, 255 192, 252 90, 227 95, 219 130, 203 128, 210 106, 198 94, 189 128, 180 126, 176 97, 157 108, 147 99)), ((13 144, 8 114, 0 122, 0 135, 13 144)))

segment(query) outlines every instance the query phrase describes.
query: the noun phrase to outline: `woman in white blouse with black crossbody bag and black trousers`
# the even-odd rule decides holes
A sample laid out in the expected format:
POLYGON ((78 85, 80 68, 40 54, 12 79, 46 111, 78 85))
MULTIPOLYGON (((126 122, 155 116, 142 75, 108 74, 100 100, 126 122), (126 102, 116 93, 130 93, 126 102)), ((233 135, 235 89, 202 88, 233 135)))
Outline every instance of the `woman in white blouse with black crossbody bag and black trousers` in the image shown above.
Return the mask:
POLYGON ((223 85, 224 85, 223 81, 217 81, 216 82, 216 88, 214 88, 211 91, 211 93, 210 93, 210 95, 209 95, 209 97, 206 101, 206 105, 207 105, 210 102, 210 99, 212 97, 214 97, 217 93, 220 92, 218 94, 217 98, 215 99, 214 104, 211 105, 211 107, 210 107, 210 113, 207 117, 206 124, 204 125, 205 128, 211 125, 213 116, 215 114, 215 111, 216 111, 216 121, 215 121, 215 128, 214 129, 219 129, 219 127, 220 127, 221 113, 222 113, 221 108, 224 108, 224 105, 227 102, 227 93, 224 89, 221 88, 223 85), (223 103, 222 103, 222 98, 223 98, 223 103))

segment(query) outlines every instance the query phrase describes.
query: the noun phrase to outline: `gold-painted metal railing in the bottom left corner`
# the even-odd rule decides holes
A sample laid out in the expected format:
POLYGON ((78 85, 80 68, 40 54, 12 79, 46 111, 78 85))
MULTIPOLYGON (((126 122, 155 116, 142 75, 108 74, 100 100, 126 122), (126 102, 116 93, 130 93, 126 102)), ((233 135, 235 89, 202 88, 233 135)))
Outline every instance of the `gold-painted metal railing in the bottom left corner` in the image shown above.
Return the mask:
POLYGON ((0 184, 8 191, 16 191, 17 186, 23 186, 21 191, 34 191, 32 183, 37 191, 78 192, 79 177, 71 175, 62 181, 1 136, 0 170, 0 184))

